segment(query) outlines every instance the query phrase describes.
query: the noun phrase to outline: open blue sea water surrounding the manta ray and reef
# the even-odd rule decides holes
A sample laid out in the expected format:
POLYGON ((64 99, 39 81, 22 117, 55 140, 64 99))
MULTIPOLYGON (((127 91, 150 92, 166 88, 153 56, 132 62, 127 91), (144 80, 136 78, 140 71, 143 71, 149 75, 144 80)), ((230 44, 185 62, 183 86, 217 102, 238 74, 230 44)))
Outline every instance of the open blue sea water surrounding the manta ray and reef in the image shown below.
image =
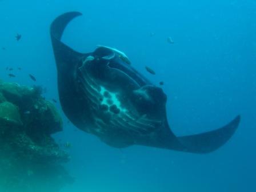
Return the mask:
POLYGON ((72 143, 66 168, 76 179, 62 192, 256 191, 255 1, 2 0, 3 80, 33 85, 28 77, 33 74, 36 84, 47 88, 45 97, 58 100, 49 26, 66 11, 83 13, 67 27, 67 45, 82 53, 95 45, 116 47, 152 82, 165 83, 175 134, 217 129, 237 114, 242 121, 225 146, 197 155, 142 146, 114 149, 67 123, 62 113, 64 130, 54 137, 72 143), (17 33, 22 34, 19 42, 17 33), (156 75, 147 73, 145 65, 156 75), (8 66, 22 70, 9 78, 8 66))

